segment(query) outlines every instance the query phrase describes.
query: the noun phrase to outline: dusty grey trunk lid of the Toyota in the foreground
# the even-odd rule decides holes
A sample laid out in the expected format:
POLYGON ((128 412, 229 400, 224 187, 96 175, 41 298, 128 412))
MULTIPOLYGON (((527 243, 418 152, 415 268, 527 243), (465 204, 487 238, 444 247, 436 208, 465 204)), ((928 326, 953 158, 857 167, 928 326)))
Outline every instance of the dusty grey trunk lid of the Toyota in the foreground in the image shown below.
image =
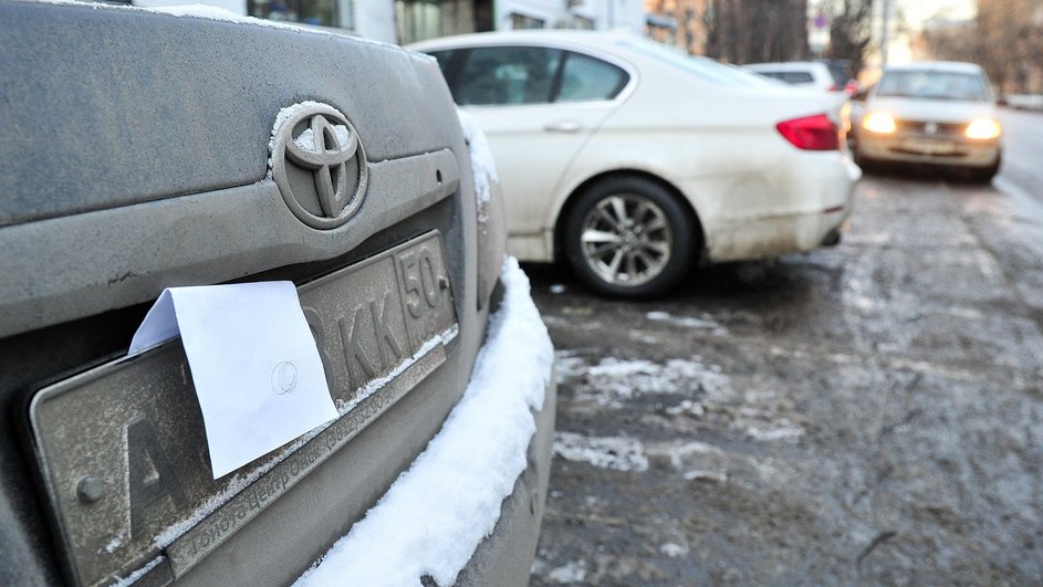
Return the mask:
MULTIPOLYGON (((213 580, 220 573, 243 583, 293 576, 415 457, 462 390, 480 344, 484 314, 473 310, 474 259, 461 254, 474 250, 473 188, 467 148, 437 65, 387 45, 244 22, 21 2, 3 4, 0 13, 0 45, 10 56, 0 64, 9 81, 0 88, 0 115, 9 129, 0 145, 0 407, 13 424, 0 431, 0 547, 12 562, 0 568, 0 584, 52 584, 60 576, 104 584, 148 564, 150 576, 160 580, 213 580), (316 228, 294 213, 296 196, 281 189, 270 168, 279 113, 309 102, 343 113, 365 154, 353 159, 367 170, 364 199, 335 227, 316 228), (418 272, 423 261, 403 261, 410 254, 423 258, 421 250, 432 260, 429 275, 418 272), (97 380, 98 369, 123 373, 119 357, 131 334, 164 287, 288 279, 302 292, 319 291, 324 280, 336 281, 341 272, 361 277, 366 266, 380 263, 390 268, 382 271, 392 273, 379 280, 398 280, 399 295, 423 304, 445 294, 437 297, 442 310, 429 323, 404 331, 409 338, 401 342, 401 356, 382 357, 379 367, 369 365, 369 371, 356 357, 355 370, 366 371, 362 378, 352 378, 347 364, 338 368, 344 371, 341 379, 348 381, 342 386, 344 405, 357 399, 367 382, 405 365, 406 355, 452 334, 435 345, 436 350, 403 367, 413 369, 413 376, 399 387, 406 379, 408 385, 392 400, 382 400, 384 405, 367 408, 364 421, 353 424, 361 431, 341 432, 345 442, 362 434, 354 441, 359 448, 332 459, 354 460, 356 467, 324 476, 341 478, 343 486, 354 488, 350 499, 330 495, 321 481, 306 479, 294 491, 309 497, 283 500, 272 509, 294 512, 294 521, 284 523, 279 536, 298 544, 299 556, 280 560, 269 553, 269 560, 246 565, 229 563, 227 556, 211 557, 223 560, 218 563, 194 555, 191 560, 182 557, 189 564, 178 566, 177 555, 166 548, 174 542, 157 539, 152 548, 128 553, 127 545, 140 542, 119 539, 118 530, 105 544, 95 536, 70 556, 76 531, 63 516, 91 500, 69 485, 88 475, 75 467, 60 473, 49 470, 52 461, 41 457, 42 447, 61 436, 55 436, 55 427, 75 421, 70 410, 84 419, 104 412, 92 411, 85 396, 77 395, 82 386, 70 381, 97 380), (419 289, 400 285, 410 277, 419 289), (439 277, 445 277, 445 287, 439 277), (414 335, 417 332, 421 334, 414 335), (423 368, 414 368, 418 363, 423 368), (409 389, 425 379, 438 392, 411 397, 409 389), (44 415, 33 403, 42 405, 41 389, 73 400, 44 415), (405 416, 362 430, 396 401, 405 416), (30 421, 31 416, 39 419, 30 421), (400 438, 383 446, 372 439, 390 430, 400 438), (59 494, 71 497, 67 507, 59 494), (301 505, 305 502, 310 507, 301 505), (319 520, 328 509, 341 517, 319 520), (46 524, 49 517, 55 523, 46 524), (84 553, 91 548, 114 563, 86 565, 84 553), (163 560, 154 564, 157 556, 163 560), (200 562, 206 568, 191 575, 200 562)), ((357 181, 357 176, 351 179, 357 181)), ((324 213, 314 202, 302 208, 313 216, 324 213)), ((319 329, 324 327, 332 337, 338 317, 351 321, 355 305, 368 307, 367 295, 344 294, 343 305, 350 307, 327 312, 333 325, 319 329)), ((406 301, 398 303, 409 315, 406 301)), ((373 363, 382 353, 377 345, 368 349, 373 363)), ((160 392, 149 397, 190 389, 187 379, 175 376, 185 370, 177 349, 150 353, 143 360, 163 355, 163 369, 174 375, 159 376, 165 381, 160 392)), ((392 379, 405 370, 392 374, 392 379)), ((107 401, 126 403, 122 395, 140 380, 131 377, 114 391, 103 390, 107 401)), ((357 406, 365 407, 364 400, 357 406)), ((191 411, 186 410, 181 412, 191 411)), ((357 419, 350 410, 345 416, 357 419)), ((111 418, 119 422, 117 428, 126 428, 116 430, 116 444, 126 444, 127 433, 142 436, 135 428, 137 416, 111 418)), ((187 431, 186 438, 197 438, 191 436, 195 424, 182 417, 156 422, 150 426, 173 426, 175 436, 187 431)), ((336 427, 331 429, 337 433, 336 427)), ((83 444, 84 438, 74 444, 83 444)), ((291 452, 286 449, 273 459, 291 452)), ((109 452, 97 463, 115 462, 112 459, 109 452)), ((157 469, 153 454, 147 460, 157 469)), ((277 470, 279 463, 271 467, 277 470)), ((115 484, 127 483, 129 473, 119 474, 124 476, 117 474, 115 484)), ((195 495, 232 500, 239 489, 229 493, 223 485, 205 488, 195 495)), ((127 523, 132 515, 127 513, 127 523)), ((148 536, 163 530, 149 528, 148 536)), ((250 528, 229 539, 253 539, 255 532, 261 531, 250 528)), ((278 545, 270 548, 279 553, 278 545)))

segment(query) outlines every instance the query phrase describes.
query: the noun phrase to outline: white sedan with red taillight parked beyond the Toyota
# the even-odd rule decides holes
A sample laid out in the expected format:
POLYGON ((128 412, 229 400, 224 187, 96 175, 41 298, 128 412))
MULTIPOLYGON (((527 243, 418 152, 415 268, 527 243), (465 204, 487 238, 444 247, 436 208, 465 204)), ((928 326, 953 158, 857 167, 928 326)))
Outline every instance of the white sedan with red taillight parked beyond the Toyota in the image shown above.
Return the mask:
POLYGON ((602 294, 663 294, 696 260, 835 243, 851 212, 843 97, 593 32, 411 48, 489 138, 509 251, 566 260, 602 294))

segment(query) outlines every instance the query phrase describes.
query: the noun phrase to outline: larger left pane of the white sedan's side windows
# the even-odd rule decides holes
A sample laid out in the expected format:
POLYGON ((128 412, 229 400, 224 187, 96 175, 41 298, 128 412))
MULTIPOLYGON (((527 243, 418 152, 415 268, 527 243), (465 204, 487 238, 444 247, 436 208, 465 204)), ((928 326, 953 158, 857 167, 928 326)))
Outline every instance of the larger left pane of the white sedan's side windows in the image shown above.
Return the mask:
POLYGON ((538 46, 488 46, 467 52, 453 72, 452 97, 461 106, 545 104, 562 52, 538 46))

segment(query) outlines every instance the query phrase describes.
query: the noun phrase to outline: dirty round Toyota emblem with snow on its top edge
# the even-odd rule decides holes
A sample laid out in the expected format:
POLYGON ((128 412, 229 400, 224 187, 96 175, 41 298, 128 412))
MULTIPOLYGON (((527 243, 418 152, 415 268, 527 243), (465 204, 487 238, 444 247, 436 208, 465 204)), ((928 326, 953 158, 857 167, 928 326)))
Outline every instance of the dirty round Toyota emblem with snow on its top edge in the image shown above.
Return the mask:
POLYGON ((362 206, 369 169, 358 133, 333 106, 304 102, 277 117, 272 179, 290 211, 316 229, 347 222, 362 206))

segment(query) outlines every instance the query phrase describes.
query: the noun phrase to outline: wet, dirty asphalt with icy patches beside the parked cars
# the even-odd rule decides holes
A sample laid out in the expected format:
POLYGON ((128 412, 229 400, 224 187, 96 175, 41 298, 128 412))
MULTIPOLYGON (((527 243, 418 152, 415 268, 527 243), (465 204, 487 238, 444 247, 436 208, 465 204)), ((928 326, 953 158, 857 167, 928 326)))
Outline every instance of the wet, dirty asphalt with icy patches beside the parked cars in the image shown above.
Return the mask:
POLYGON ((839 245, 654 302, 524 269, 559 359, 533 585, 1043 584, 1024 191, 866 176, 839 245))

